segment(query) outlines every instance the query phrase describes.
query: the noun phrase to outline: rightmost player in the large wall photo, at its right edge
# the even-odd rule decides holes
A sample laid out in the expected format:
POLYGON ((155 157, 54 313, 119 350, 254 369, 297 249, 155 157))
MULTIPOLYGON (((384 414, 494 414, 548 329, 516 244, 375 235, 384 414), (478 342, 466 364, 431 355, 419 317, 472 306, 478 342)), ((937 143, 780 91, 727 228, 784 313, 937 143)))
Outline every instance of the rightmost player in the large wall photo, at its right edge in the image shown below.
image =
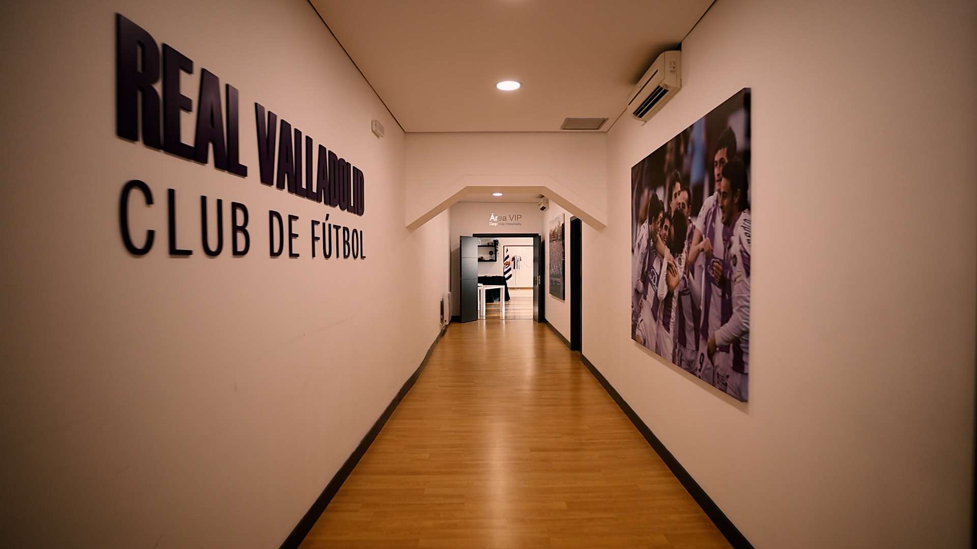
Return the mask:
POLYGON ((728 296, 723 296, 723 324, 706 343, 706 354, 719 363, 718 350, 728 349, 726 392, 746 401, 746 381, 749 362, 749 272, 750 272, 750 213, 746 168, 734 158, 723 168, 720 187, 723 225, 733 228, 726 245, 726 275, 729 277, 728 296), (728 302, 728 303, 727 303, 728 302))

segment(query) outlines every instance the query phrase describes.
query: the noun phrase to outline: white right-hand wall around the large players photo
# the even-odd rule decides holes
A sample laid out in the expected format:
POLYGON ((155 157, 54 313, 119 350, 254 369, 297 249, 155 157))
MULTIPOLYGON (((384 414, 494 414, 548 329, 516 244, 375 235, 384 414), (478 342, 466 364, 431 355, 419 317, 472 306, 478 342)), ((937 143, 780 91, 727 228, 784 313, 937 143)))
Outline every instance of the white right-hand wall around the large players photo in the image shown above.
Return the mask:
POLYGON ((584 355, 756 547, 969 545, 977 6, 941 4, 720 0, 682 91, 610 132, 584 355), (628 329, 631 166, 743 87, 748 403, 628 329))

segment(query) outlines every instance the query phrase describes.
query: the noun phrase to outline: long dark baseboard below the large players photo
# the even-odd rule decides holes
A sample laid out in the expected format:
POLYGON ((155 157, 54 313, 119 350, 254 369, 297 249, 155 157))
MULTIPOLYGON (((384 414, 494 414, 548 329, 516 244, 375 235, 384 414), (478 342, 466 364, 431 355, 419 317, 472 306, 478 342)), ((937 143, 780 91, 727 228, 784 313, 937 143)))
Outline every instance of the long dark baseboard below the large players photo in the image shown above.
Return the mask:
MULTIPOLYGON (((570 346, 568 345, 568 347, 570 346)), ((594 366, 594 364, 583 355, 580 355, 580 361, 583 362, 583 365, 587 366, 590 373, 597 378, 597 381, 601 383, 604 390, 608 392, 608 395, 611 395, 611 398, 617 402, 620 409, 624 411, 624 415, 626 415, 627 418, 631 420, 631 423, 638 428, 638 432, 640 432, 645 440, 648 441, 653 448, 655 448, 655 451, 658 452, 658 456, 661 457, 661 461, 665 462, 665 465, 667 465, 668 469, 670 469, 672 474, 675 475, 678 482, 682 483, 682 486, 685 486, 685 489, 688 490, 689 494, 692 495, 692 498, 696 500, 696 503, 699 504, 702 511, 705 511, 705 515, 709 517, 709 519, 712 520, 712 523, 716 525, 716 528, 719 528, 719 531, 726 536, 726 539, 730 542, 730 545, 737 548, 742 547, 752 549, 753 546, 749 544, 749 541, 746 540, 743 533, 741 533, 740 530, 736 528, 736 526, 729 520, 729 518, 726 517, 722 510, 719 509, 719 506, 716 505, 716 502, 712 501, 712 498, 705 493, 705 490, 703 490, 702 487, 699 486, 699 483, 692 478, 692 475, 685 470, 685 467, 682 467, 682 464, 675 459, 675 456, 668 451, 668 448, 666 448, 665 445, 658 440, 655 433, 652 433, 652 430, 649 429, 648 426, 645 425, 645 422, 638 417, 638 414, 631 409, 631 406, 628 405, 627 401, 624 401, 624 399, 621 398, 620 394, 618 394, 615 388, 608 382, 607 378, 605 378, 604 375, 601 374, 601 372, 594 366)))

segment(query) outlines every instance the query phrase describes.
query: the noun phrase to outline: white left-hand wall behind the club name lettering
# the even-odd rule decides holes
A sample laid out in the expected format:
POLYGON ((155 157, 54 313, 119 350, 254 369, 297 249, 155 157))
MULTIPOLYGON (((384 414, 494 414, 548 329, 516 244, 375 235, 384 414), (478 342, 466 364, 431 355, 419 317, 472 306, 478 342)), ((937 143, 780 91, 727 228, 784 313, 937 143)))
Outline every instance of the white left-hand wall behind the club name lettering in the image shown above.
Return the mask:
POLYGON ((427 258, 448 216, 404 230, 404 134, 304 0, 0 10, 5 543, 276 547, 437 336, 448 271, 427 258), (247 178, 115 137, 116 10, 193 60, 194 107, 203 67, 239 90, 247 178), (256 101, 363 170, 362 217, 259 183, 256 101), (139 241, 156 230, 141 258, 118 228, 131 179, 155 198, 133 202, 139 241), (167 188, 190 258, 167 254, 167 188), (247 204, 248 255, 226 233, 204 256, 201 194, 225 200, 226 232, 247 204), (268 209, 300 216, 302 257, 269 257, 268 209), (366 260, 308 256, 326 213, 364 230, 366 260))

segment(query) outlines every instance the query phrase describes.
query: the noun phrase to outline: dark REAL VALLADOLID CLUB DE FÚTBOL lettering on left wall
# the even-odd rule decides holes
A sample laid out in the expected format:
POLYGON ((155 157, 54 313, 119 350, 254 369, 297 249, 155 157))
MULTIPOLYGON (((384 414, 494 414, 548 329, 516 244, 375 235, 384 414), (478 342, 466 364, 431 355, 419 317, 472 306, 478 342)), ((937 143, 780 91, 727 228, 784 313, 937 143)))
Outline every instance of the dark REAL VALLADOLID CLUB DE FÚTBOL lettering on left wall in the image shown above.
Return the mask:
MULTIPOLYGON (((160 49, 146 29, 122 15, 115 15, 115 135, 199 164, 208 164, 213 157, 215 169, 246 178, 247 166, 240 163, 240 94, 237 88, 225 83, 222 102, 220 78, 203 67, 200 67, 196 94, 193 143, 182 141, 181 116, 185 112, 194 112, 193 100, 184 95, 181 86, 181 78, 189 74, 193 74, 193 61, 189 57, 169 44, 164 43, 160 49)), ((254 110, 258 180, 262 184, 339 208, 348 214, 363 215, 365 178, 360 168, 334 150, 317 144, 312 136, 304 135, 298 127, 265 106, 255 102, 254 110)), ((142 229, 145 236, 141 245, 133 239, 130 218, 133 209, 139 207, 138 199, 135 204, 131 199, 134 190, 143 194, 145 207, 153 205, 152 191, 147 183, 141 180, 127 182, 119 194, 119 232, 126 250, 140 256, 152 249, 155 230, 142 229)), ((177 242, 176 190, 167 189, 166 198, 169 254, 191 256, 193 250, 181 248, 177 242)), ((232 255, 245 256, 251 248, 247 206, 232 201, 230 218, 232 255)), ((317 257, 316 248, 320 242, 320 255, 324 259, 365 259, 362 230, 328 223, 328 220, 329 214, 325 214, 323 221, 311 220, 311 257, 317 257), (342 254, 339 253, 340 233, 342 254), (336 253, 333 253, 333 245, 336 253)), ((297 221, 297 215, 269 210, 270 257, 284 253, 286 230, 288 257, 300 257, 295 247, 295 240, 302 236, 296 232, 297 221)), ((201 195, 200 248, 206 256, 217 257, 223 253, 224 230, 224 199, 214 199, 208 208, 207 196, 201 195), (213 211, 212 216, 208 215, 208 209, 213 211)), ((138 237, 139 233, 136 235, 138 237)))

